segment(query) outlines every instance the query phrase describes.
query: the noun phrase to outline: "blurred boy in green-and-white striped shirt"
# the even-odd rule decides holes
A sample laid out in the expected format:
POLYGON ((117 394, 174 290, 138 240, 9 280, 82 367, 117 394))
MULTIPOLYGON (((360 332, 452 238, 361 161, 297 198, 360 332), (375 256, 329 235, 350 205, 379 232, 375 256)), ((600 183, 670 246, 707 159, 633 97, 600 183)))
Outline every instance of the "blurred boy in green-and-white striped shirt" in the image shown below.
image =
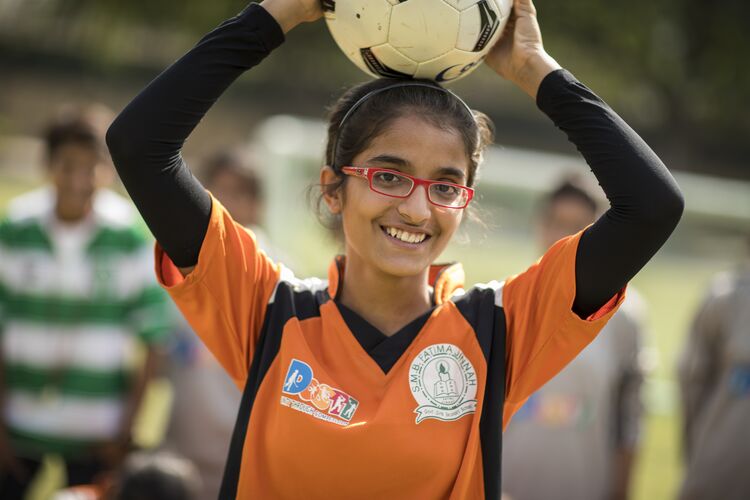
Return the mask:
POLYGON ((5 500, 23 498, 48 453, 62 456, 71 485, 118 463, 154 364, 151 346, 168 331, 136 213, 103 188, 112 177, 110 118, 103 107, 63 110, 45 135, 48 184, 13 200, 0 223, 5 500))

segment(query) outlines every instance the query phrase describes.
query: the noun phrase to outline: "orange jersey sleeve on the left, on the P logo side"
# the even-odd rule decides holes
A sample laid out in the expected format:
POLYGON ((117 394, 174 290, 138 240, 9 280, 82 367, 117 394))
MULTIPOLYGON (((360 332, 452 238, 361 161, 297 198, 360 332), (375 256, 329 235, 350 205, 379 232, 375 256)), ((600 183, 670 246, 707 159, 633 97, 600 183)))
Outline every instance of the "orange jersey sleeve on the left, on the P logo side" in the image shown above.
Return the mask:
POLYGON ((185 319, 243 387, 281 267, 258 248, 252 232, 212 199, 195 269, 182 278, 157 244, 156 272, 185 319))

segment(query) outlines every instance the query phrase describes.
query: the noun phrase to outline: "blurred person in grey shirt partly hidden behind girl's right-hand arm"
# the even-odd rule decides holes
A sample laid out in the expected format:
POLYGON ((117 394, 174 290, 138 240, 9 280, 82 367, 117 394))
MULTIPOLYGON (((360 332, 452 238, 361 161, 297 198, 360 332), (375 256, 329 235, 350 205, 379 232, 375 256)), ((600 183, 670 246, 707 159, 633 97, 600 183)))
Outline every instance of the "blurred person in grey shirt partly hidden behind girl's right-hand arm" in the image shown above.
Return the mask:
MULTIPOLYGON (((575 177, 539 207, 544 249, 596 219, 598 203, 575 177)), ((534 393, 503 434, 503 489, 514 500, 628 497, 642 413, 642 304, 632 288, 599 336, 534 393)))

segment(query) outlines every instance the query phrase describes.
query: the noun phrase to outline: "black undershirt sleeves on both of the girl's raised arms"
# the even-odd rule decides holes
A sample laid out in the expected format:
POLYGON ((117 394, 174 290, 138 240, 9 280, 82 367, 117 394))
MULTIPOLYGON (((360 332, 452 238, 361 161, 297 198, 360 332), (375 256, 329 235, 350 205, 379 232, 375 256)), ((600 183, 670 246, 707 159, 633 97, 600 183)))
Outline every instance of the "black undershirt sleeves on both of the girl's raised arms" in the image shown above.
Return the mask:
MULTIPOLYGON (((198 261, 211 212, 182 145, 226 88, 283 40, 273 17, 251 4, 151 82, 107 133, 123 184, 180 267, 198 261)), ((648 145, 567 71, 544 79, 537 104, 576 145, 611 204, 584 233, 576 255, 573 309, 586 317, 666 241, 682 214, 682 195, 648 145)))

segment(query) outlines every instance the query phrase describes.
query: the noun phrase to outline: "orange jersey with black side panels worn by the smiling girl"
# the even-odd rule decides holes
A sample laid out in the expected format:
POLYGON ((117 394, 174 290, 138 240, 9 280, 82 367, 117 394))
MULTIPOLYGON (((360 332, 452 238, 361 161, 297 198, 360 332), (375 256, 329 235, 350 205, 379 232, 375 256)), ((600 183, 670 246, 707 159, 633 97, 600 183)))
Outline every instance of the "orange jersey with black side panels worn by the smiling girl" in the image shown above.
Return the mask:
MULTIPOLYGON (((571 311, 580 234, 525 272, 462 288, 431 269, 434 307, 391 337, 257 248, 213 200, 195 270, 157 247, 157 274, 244 390, 221 498, 500 497, 501 429, 623 299, 571 311)), ((356 285, 352 285, 356 286, 356 285)))

